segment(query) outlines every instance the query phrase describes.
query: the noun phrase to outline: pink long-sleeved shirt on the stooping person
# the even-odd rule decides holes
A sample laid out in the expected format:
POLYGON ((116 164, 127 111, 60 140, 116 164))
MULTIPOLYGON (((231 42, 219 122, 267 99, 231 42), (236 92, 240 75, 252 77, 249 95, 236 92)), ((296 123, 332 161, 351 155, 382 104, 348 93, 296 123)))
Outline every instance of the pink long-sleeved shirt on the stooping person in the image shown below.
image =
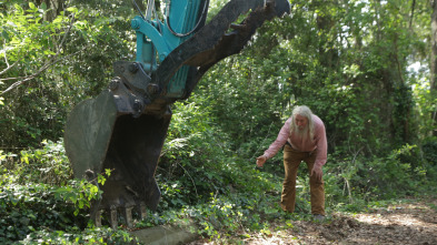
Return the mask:
POLYGON ((288 141, 288 143, 291 144, 292 149, 297 151, 312 152, 317 149, 315 165, 325 165, 328 152, 325 125, 317 115, 312 115, 312 122, 315 126, 314 140, 310 141, 310 139, 308 137, 306 141, 302 141, 301 137, 298 137, 295 134, 290 135, 291 118, 289 118, 284 124, 282 129, 279 131, 276 141, 270 144, 267 151, 264 152, 264 155, 266 155, 267 159, 271 159, 288 141))

